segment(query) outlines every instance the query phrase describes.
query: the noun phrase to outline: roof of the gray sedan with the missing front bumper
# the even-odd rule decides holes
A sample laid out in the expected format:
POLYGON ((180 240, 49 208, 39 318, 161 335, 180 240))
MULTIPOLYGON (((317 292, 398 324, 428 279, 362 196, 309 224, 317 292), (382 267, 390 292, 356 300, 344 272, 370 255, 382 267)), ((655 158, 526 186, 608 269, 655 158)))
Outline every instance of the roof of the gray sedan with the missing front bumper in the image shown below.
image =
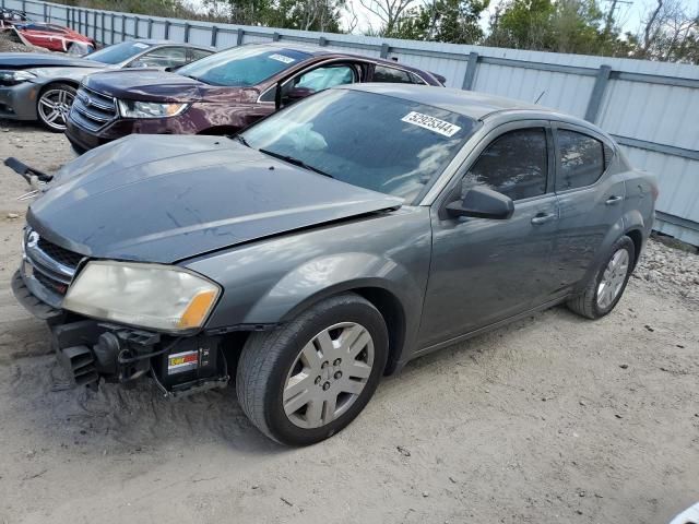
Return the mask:
POLYGON ((546 112, 559 116, 554 109, 529 104, 513 98, 486 95, 475 91, 454 90, 449 87, 435 87, 417 84, 354 84, 343 85, 339 88, 366 91, 380 95, 394 96, 427 106, 435 106, 448 111, 458 112, 474 120, 482 120, 486 116, 508 110, 526 110, 546 112))

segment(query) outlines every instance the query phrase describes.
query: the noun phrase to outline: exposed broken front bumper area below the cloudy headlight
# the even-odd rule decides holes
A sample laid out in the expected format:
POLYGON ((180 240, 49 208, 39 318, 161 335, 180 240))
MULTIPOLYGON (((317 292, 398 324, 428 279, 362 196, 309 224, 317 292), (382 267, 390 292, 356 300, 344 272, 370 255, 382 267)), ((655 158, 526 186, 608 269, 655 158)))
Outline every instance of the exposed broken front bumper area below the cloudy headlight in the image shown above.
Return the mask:
POLYGON ((67 312, 39 298, 55 294, 42 293, 44 286, 26 267, 31 264, 25 260, 12 278, 14 296, 31 313, 48 322, 51 347, 73 383, 96 388, 100 380, 130 383, 150 376, 165 396, 227 385, 221 336, 178 337, 67 312))

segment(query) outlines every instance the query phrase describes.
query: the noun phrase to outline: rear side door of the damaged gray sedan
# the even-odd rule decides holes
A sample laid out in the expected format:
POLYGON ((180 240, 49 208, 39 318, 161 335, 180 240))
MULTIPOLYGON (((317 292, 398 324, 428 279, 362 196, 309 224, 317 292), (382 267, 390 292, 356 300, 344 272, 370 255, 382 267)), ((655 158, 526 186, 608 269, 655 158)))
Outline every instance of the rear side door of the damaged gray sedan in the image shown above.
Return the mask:
POLYGON ((554 123, 555 190, 560 206, 554 266, 560 288, 580 282, 604 238, 618 228, 626 189, 623 174, 611 172, 614 150, 585 128, 554 123))

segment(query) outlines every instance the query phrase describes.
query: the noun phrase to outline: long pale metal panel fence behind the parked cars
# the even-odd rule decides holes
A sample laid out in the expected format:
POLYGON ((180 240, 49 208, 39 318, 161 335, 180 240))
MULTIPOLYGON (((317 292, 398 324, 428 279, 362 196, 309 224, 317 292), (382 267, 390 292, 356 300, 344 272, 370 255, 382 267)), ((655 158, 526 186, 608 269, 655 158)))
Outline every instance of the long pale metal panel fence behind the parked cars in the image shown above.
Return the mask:
POLYGON ((313 44, 433 71, 450 87, 538 100, 597 123, 633 165, 655 172, 661 190, 656 228, 699 246, 699 67, 169 20, 37 0, 0 4, 68 25, 105 45, 130 38, 221 49, 256 41, 313 44))

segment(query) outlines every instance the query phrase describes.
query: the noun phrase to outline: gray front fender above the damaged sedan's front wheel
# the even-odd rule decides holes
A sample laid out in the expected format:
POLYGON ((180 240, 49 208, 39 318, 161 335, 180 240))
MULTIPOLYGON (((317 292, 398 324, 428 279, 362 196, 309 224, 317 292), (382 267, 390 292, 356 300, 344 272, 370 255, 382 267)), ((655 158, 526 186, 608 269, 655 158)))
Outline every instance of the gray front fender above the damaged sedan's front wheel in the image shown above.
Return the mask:
POLYGON ((379 288, 400 302, 411 341, 429 273, 428 212, 405 206, 186 262, 224 289, 206 329, 275 325, 330 295, 379 288))

